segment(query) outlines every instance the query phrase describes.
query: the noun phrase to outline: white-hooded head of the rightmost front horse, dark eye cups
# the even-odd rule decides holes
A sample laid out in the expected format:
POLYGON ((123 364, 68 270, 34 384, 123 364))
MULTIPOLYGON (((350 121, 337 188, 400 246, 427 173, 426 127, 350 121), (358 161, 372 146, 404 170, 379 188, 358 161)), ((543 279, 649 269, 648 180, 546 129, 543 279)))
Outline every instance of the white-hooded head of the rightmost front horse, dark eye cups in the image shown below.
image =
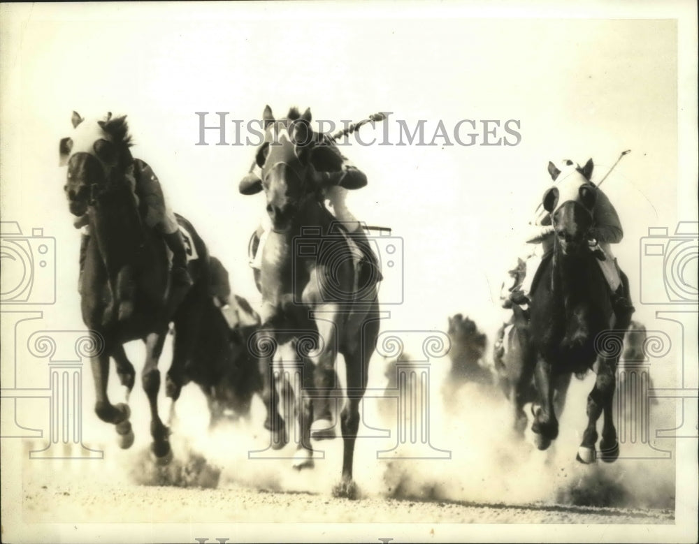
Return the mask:
POLYGON ((589 251, 597 198, 597 189, 590 182, 592 169, 592 159, 582 168, 572 161, 564 161, 560 169, 549 162, 549 174, 556 185, 544 193, 543 206, 551 216, 554 243, 564 255, 589 251))

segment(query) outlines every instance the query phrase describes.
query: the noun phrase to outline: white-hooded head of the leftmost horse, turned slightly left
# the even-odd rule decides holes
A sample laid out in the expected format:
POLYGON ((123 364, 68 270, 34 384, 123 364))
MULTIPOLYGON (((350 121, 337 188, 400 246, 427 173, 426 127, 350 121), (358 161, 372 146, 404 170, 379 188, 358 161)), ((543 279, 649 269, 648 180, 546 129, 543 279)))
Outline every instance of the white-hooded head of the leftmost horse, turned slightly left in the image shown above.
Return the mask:
POLYGON ((126 116, 84 119, 73 112, 73 133, 59 145, 60 166, 68 165, 64 186, 71 213, 82 216, 101 194, 123 180, 133 162, 126 116))

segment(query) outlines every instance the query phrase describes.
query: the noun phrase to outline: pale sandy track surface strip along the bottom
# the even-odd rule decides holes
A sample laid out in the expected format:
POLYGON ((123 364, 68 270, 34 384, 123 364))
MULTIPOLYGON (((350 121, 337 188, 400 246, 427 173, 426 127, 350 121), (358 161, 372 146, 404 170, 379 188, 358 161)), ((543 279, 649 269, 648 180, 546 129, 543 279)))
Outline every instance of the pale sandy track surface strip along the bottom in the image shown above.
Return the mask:
POLYGON ((362 522, 403 523, 672 523, 672 510, 556 504, 477 504, 368 497, 355 501, 305 492, 267 492, 238 485, 220 489, 39 482, 25 485, 25 519, 86 523, 362 522))

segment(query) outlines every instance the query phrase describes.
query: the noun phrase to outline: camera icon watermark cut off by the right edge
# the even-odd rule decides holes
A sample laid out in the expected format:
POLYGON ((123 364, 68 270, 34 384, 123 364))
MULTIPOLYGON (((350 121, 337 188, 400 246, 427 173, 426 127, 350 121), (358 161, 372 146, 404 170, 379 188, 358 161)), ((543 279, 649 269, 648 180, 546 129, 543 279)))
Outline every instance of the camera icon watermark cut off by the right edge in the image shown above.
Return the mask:
POLYGON ((697 263, 699 223, 680 221, 675 234, 667 227, 651 227, 640 241, 640 284, 643 304, 699 302, 697 263), (658 280, 662 279, 662 287, 658 280))

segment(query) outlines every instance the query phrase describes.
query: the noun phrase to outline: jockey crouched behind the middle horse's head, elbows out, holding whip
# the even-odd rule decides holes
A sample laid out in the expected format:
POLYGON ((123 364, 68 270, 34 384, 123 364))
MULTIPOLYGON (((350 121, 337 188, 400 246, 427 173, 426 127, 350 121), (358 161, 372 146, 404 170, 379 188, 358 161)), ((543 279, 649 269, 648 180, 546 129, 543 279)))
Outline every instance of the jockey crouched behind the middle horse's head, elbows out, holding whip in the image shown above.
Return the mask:
MULTIPOLYGON (((327 138, 326 142, 328 142, 327 138)), ((359 248, 359 251, 361 251, 362 256, 359 260, 359 285, 367 285, 370 279, 373 279, 373 281, 381 281, 383 276, 380 271, 378 259, 369 245, 368 237, 366 233, 364 233, 361 223, 356 219, 354 214, 347 209, 347 204, 345 203, 348 192, 347 189, 345 189, 344 186, 340 186, 340 184, 345 182, 353 188, 366 186, 366 175, 353 166, 352 163, 340 153, 336 145, 333 145, 331 142, 329 142, 328 145, 330 145, 330 149, 333 149, 333 152, 336 152, 338 156, 340 156, 343 161, 343 166, 337 172, 313 171, 316 182, 322 189, 322 202, 326 209, 342 223, 345 230, 347 230, 347 235, 349 235, 354 244, 359 248)), ((249 193, 247 188, 259 183, 261 181, 261 175, 261 168, 257 166, 257 163, 252 163, 250 171, 240 182, 238 187, 240 193, 249 193)), ((262 262, 262 247, 272 228, 271 220, 267 214, 264 214, 260 223, 260 241, 254 257, 250 260, 250 266, 257 269, 259 269, 262 262)))

